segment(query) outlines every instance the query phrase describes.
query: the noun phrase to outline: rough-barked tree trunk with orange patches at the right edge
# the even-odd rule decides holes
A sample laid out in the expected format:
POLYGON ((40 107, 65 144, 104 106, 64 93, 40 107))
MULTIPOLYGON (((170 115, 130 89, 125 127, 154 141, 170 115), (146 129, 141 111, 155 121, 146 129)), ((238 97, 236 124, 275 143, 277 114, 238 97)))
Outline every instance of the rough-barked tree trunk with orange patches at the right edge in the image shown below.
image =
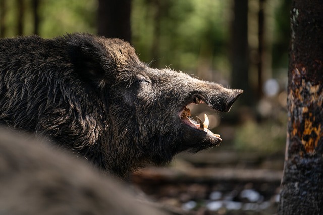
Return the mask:
POLYGON ((293 0, 279 214, 323 214, 323 2, 293 0))

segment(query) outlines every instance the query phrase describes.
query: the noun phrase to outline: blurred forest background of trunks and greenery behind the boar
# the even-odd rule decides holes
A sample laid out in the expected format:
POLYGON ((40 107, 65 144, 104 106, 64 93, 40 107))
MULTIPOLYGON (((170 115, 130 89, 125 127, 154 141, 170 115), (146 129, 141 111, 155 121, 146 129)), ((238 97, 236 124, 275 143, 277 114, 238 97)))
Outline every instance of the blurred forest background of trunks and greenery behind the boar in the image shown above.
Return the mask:
MULTIPOLYGON (((223 139, 215 150, 234 152, 235 168, 257 155, 251 156, 255 162, 278 157, 271 165, 282 171, 290 7, 290 0, 0 0, 0 37, 72 32, 120 37, 151 67, 243 89, 230 113, 202 105, 192 112, 200 118, 207 113, 212 131, 223 139)), ((210 165, 200 157, 192 160, 210 165)), ((232 162, 228 153, 220 158, 232 162)))

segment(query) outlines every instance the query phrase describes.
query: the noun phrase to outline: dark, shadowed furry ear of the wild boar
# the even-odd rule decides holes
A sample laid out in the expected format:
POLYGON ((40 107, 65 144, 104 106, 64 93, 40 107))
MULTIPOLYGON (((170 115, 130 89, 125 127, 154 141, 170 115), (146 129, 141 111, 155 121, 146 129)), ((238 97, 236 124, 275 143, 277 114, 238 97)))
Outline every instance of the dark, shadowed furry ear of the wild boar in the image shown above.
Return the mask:
POLYGON ((76 73, 83 81, 97 85, 104 78, 104 47, 87 34, 69 39, 69 55, 76 73))

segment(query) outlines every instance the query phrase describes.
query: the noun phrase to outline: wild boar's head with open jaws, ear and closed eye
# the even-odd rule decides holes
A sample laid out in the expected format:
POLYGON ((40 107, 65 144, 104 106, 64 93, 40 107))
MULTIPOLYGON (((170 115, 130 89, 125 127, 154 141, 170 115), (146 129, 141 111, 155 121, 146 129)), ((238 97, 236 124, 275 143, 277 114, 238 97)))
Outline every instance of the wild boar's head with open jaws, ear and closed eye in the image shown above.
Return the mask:
POLYGON ((115 153, 116 162, 109 169, 120 172, 121 167, 160 165, 179 152, 198 152, 222 141, 207 125, 189 119, 186 106, 206 103, 228 112, 242 90, 170 69, 150 68, 138 59, 133 47, 119 39, 92 41, 82 36, 77 41, 79 70, 85 79, 92 76, 92 85, 106 99, 108 131, 103 144, 109 145, 107 154, 115 153))

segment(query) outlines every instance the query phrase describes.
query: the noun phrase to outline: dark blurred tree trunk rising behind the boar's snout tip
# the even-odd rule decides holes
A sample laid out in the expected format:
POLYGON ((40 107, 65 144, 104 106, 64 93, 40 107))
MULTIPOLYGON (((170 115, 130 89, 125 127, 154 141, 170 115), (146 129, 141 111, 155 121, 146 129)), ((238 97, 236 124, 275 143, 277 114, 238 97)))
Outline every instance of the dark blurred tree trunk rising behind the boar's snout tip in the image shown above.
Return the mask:
POLYGON ((248 0, 234 0, 234 19, 231 32, 232 88, 243 89, 240 102, 251 106, 252 91, 249 83, 248 0))

